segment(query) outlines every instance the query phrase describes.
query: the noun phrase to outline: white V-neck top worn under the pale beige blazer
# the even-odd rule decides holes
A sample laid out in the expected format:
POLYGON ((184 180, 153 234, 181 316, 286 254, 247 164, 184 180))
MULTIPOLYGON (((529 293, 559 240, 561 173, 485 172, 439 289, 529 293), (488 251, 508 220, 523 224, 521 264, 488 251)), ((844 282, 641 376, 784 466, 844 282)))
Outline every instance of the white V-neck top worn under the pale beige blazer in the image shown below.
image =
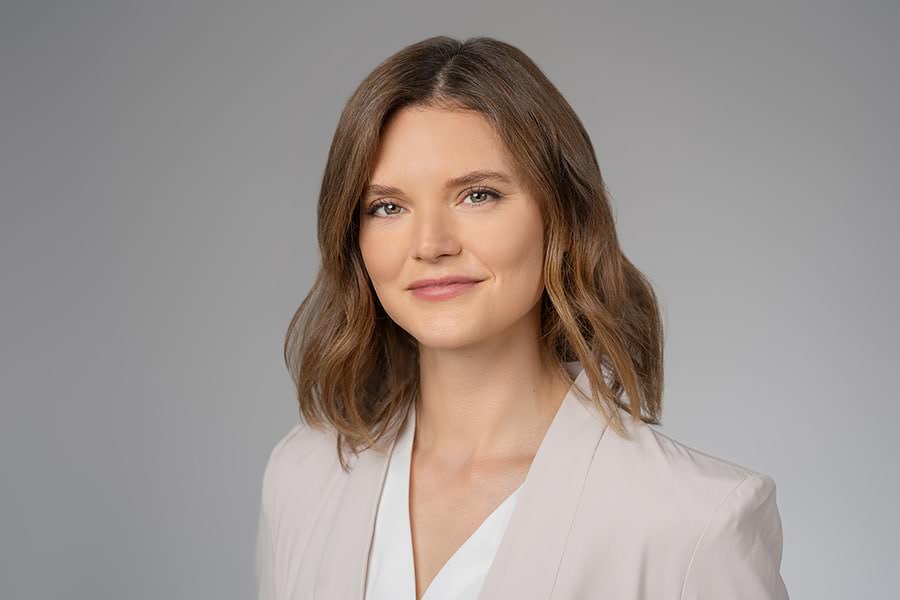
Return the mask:
MULTIPOLYGON (((366 576, 366 600, 415 600, 409 474, 415 411, 399 432, 378 503, 375 536, 366 576)), ((500 545, 524 482, 487 516, 444 563, 422 600, 475 600, 500 545)))

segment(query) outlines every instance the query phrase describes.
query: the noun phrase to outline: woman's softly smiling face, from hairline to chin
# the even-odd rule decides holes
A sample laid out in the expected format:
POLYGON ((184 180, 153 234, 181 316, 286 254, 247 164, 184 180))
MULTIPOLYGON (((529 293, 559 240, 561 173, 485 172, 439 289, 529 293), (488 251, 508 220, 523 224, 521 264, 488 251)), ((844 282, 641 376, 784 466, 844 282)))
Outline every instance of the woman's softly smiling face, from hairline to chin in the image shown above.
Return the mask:
POLYGON ((387 123, 359 245, 385 311, 420 346, 460 348, 538 323, 543 221, 511 167, 480 113, 405 107, 387 123), (477 171, 507 180, 452 182, 477 171), (444 299, 409 289, 451 275, 480 281, 444 299))

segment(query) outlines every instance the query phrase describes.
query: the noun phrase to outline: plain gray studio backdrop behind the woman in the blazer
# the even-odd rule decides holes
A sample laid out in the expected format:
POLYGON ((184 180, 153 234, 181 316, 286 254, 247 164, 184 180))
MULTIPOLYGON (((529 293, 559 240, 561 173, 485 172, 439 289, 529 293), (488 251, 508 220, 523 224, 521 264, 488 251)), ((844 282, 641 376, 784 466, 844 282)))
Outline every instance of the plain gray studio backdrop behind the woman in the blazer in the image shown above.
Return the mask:
POLYGON ((663 305, 660 429, 775 478, 792 598, 888 597, 898 3, 377 4, 2 7, 0 596, 253 596, 339 111, 445 33, 582 118, 663 305))

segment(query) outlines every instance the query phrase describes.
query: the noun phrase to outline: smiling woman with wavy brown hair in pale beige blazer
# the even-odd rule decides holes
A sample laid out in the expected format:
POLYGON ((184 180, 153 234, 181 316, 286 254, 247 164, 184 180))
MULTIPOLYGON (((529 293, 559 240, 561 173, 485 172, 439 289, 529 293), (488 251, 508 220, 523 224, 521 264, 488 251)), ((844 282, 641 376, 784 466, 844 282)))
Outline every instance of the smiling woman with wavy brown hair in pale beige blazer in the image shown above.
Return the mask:
POLYGON ((660 423, 654 292, 518 49, 439 36, 337 127, 285 359, 260 598, 786 599, 767 475, 660 423))

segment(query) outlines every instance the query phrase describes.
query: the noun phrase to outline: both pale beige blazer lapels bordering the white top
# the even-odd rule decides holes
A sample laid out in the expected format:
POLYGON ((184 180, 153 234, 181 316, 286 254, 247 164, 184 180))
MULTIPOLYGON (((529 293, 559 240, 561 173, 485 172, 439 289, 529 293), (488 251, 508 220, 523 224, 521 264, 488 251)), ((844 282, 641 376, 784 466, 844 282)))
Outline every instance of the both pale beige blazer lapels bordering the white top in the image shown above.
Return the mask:
MULTIPOLYGON (((585 479, 606 422, 589 399, 587 373, 566 363, 575 377, 535 454, 479 598, 550 598, 585 479), (537 543, 539 542, 539 543, 537 543)), ((414 415, 410 410, 409 415, 414 415)), ((408 418, 408 417, 407 417, 408 418)), ((378 501, 387 475, 387 453, 356 456, 324 549, 314 598, 363 600, 378 501)))

